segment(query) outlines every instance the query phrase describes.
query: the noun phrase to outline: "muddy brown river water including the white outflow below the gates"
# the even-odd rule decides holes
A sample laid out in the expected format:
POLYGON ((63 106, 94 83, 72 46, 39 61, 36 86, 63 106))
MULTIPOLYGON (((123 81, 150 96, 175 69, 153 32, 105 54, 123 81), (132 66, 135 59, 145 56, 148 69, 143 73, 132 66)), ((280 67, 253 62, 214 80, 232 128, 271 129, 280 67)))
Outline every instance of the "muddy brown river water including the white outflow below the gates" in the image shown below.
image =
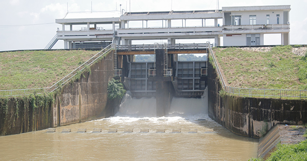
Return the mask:
POLYGON ((248 160, 258 140, 238 136, 208 117, 207 97, 173 98, 156 117, 155 98, 126 94, 111 118, 0 137, 0 160, 248 160), (77 130, 85 128, 85 133, 77 130), (94 128, 101 132, 94 133, 94 128), (61 133, 62 129, 72 132, 61 133), (158 133, 157 133, 158 132, 158 133))

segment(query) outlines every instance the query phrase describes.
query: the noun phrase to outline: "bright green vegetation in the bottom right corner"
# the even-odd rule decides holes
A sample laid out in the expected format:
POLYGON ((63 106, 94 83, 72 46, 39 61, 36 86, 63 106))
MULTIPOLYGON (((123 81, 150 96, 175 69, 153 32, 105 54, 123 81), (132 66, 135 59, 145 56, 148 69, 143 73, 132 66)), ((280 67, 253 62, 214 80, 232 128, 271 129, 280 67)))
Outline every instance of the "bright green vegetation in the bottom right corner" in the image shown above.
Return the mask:
MULTIPOLYGON (((252 161, 262 161, 261 158, 251 158, 252 161)), ((289 160, 301 161, 307 160, 307 140, 292 145, 277 145, 277 149, 271 153, 271 156, 266 159, 267 161, 275 160, 289 160)))

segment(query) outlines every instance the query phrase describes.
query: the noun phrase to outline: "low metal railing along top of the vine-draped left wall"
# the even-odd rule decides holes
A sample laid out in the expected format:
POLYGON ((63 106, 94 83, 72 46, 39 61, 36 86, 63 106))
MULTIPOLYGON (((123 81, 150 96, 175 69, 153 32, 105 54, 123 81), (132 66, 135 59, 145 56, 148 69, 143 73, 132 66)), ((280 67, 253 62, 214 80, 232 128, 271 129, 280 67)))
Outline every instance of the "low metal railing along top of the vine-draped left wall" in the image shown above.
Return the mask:
POLYGON ((43 94, 50 90, 48 88, 31 88, 31 89, 12 89, 12 90, 0 90, 0 97, 10 97, 10 96, 23 96, 31 94, 43 94))

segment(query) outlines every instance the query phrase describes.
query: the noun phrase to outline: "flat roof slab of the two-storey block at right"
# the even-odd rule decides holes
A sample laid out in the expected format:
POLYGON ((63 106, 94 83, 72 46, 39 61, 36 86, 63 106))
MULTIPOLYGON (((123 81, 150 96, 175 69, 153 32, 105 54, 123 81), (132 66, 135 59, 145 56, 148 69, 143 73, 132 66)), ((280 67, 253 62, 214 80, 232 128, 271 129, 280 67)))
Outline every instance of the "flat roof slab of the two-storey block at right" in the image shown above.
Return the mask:
POLYGON ((265 11, 265 10, 291 10, 290 5, 277 6, 242 6, 242 7, 222 7, 222 11, 265 11))

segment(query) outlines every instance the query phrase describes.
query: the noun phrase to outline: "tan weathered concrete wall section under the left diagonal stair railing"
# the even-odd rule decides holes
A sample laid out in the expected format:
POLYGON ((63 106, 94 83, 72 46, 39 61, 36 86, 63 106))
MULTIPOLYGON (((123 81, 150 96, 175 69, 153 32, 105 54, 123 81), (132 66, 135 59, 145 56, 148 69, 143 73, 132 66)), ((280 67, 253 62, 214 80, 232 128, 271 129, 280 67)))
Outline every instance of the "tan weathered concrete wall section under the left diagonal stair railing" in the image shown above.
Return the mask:
POLYGON ((106 113, 110 113, 106 111, 107 83, 113 78, 113 63, 111 52, 91 65, 91 74, 85 72, 79 80, 62 88, 54 106, 53 119, 56 126, 103 118, 106 113))

